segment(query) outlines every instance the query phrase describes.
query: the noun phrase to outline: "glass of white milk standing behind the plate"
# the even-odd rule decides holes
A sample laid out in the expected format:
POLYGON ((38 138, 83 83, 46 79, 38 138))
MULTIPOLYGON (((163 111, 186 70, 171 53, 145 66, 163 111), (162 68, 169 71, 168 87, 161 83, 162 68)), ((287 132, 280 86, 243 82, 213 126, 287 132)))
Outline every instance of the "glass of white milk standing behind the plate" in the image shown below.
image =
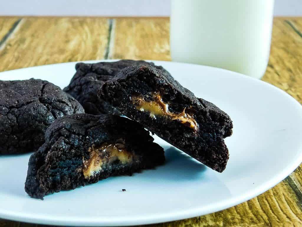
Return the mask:
POLYGON ((172 0, 172 61, 261 78, 271 45, 274 0, 172 0))

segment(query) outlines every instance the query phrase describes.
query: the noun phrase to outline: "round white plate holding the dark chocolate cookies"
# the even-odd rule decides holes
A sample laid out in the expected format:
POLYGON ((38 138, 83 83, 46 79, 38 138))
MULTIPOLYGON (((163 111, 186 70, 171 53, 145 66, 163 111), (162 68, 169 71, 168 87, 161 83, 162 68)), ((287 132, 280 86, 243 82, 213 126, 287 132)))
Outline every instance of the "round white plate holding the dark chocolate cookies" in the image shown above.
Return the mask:
MULTIPOLYGON (((96 62, 96 61, 89 61, 96 62)), ((0 218, 52 225, 138 225, 167 222, 226 209, 265 192, 302 161, 302 107, 282 90, 250 77, 193 64, 154 61, 196 96, 233 120, 225 142, 230 160, 223 173, 204 166, 154 137, 166 163, 134 176, 32 199, 24 191, 30 154, 0 156, 0 218), (121 189, 126 189, 122 192, 121 189)), ((1 80, 40 78, 61 88, 75 63, 0 73, 1 80)))

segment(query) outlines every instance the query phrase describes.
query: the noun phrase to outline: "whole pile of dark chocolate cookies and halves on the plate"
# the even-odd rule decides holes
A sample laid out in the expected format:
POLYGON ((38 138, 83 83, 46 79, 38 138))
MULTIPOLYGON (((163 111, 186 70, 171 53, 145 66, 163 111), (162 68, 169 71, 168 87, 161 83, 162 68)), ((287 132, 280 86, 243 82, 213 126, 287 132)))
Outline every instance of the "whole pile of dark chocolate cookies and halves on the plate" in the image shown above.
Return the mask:
POLYGON ((0 94, 0 154, 34 152, 34 198, 164 164, 149 131, 218 172, 229 159, 230 117, 150 62, 78 63, 63 90, 30 79, 0 81, 0 94))

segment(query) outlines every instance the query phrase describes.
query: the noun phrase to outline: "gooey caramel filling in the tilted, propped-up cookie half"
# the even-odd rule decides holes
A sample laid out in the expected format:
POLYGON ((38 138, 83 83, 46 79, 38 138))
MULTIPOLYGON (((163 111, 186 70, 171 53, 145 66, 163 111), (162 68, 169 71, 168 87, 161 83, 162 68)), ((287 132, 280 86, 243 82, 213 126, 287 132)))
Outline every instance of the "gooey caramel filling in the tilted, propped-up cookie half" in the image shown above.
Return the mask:
POLYGON ((145 111, 150 113, 150 117, 156 118, 160 117, 169 117, 171 120, 178 120, 187 127, 190 127, 193 130, 197 130, 198 124, 196 120, 185 112, 186 108, 181 113, 172 113, 169 111, 168 104, 162 101, 162 98, 159 94, 154 95, 153 101, 146 101, 142 97, 135 97, 134 103, 137 110, 145 111))

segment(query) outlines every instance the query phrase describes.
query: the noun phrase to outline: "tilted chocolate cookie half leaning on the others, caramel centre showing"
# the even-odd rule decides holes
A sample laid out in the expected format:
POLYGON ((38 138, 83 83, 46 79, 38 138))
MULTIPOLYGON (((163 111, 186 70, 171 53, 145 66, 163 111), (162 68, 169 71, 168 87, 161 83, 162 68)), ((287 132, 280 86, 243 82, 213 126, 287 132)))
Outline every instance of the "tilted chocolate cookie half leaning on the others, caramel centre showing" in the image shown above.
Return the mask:
POLYGON ((128 67, 105 82, 98 95, 210 168, 225 169, 229 153, 223 139, 232 134, 230 117, 171 75, 150 65, 128 67))

